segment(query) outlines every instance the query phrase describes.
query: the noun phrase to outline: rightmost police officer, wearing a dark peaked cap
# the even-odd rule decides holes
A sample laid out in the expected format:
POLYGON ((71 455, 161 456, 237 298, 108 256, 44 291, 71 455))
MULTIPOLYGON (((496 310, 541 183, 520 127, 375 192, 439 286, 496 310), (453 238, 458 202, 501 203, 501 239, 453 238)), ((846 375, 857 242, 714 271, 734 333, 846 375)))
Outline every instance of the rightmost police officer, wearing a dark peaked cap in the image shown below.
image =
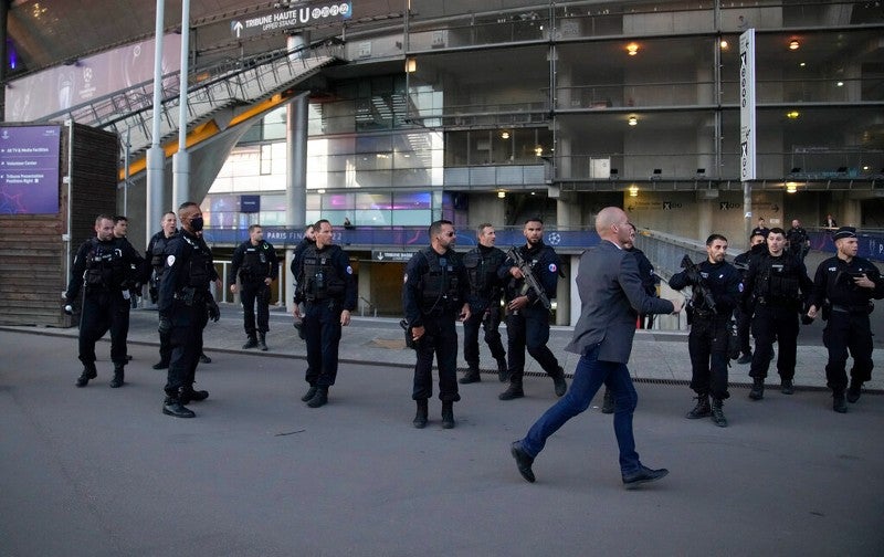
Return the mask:
POLYGON ((848 411, 846 401, 860 400, 863 382, 872 378, 869 314, 873 308, 872 298, 884 297, 884 278, 869 260, 856 256, 856 229, 841 227, 833 239, 838 254, 817 267, 808 317, 815 318, 818 313, 822 313, 822 318, 828 320, 823 329, 823 344, 829 348, 825 381, 832 389, 832 409, 844 413, 848 411), (848 350, 853 356, 850 388, 845 371, 848 350))

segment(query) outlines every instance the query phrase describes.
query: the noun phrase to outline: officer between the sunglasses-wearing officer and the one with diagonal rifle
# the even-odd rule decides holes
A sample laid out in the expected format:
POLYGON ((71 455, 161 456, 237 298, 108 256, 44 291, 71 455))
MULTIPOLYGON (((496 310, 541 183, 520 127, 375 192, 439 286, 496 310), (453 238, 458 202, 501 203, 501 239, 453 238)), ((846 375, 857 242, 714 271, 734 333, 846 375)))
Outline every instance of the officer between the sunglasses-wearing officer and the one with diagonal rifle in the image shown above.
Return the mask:
POLYGON ((497 276, 506 254, 494 246, 497 234, 490 223, 480 224, 476 233, 478 245, 463 256, 463 266, 470 280, 470 318, 463 322, 463 357, 467 370, 461 378, 462 383, 481 381, 478 375, 478 328, 485 328, 485 343, 497 360, 497 378, 507 379, 506 351, 501 341, 501 295, 503 282, 497 276))

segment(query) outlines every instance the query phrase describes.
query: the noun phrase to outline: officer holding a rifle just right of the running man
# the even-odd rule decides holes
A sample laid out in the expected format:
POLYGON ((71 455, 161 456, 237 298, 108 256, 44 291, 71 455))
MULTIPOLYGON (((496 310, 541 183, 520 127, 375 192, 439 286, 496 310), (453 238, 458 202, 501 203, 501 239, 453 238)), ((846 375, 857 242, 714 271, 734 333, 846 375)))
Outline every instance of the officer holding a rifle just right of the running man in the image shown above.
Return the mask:
POLYGON ((741 275, 725 261, 727 239, 712 234, 706 239, 706 261, 675 273, 670 286, 680 291, 692 286, 688 305, 691 333, 687 350, 691 354, 691 389, 697 393, 697 404, 687 419, 712 417, 719 428, 727 427, 722 411, 727 392, 728 344, 732 316, 739 303, 741 275), (704 291, 708 296, 704 296, 704 291), (712 407, 709 406, 712 395, 712 407))

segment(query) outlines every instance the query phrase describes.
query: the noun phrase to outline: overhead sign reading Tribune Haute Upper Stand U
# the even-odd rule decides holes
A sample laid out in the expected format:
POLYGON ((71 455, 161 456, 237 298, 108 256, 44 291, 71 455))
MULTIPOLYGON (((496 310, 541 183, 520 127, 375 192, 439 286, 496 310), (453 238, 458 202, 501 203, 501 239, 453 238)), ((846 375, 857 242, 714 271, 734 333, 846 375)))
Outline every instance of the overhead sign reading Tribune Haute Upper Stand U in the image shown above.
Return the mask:
POLYGON ((328 0, 233 20, 230 22, 230 32, 234 38, 242 39, 264 33, 292 32, 302 28, 346 21, 350 18, 352 18, 352 2, 328 0))

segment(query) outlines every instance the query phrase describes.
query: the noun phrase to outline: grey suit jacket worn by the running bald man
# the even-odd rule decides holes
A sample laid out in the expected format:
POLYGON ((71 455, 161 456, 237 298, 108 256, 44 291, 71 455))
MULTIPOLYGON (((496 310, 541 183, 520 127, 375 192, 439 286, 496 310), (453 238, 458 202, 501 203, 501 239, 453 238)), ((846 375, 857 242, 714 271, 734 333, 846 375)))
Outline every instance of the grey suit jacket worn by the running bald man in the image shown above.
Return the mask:
POLYGON ((583 355, 599 345, 599 359, 625 364, 632 351, 639 314, 666 314, 669 299, 649 296, 635 256, 607 240, 580 256, 577 272, 580 318, 565 348, 583 355))

